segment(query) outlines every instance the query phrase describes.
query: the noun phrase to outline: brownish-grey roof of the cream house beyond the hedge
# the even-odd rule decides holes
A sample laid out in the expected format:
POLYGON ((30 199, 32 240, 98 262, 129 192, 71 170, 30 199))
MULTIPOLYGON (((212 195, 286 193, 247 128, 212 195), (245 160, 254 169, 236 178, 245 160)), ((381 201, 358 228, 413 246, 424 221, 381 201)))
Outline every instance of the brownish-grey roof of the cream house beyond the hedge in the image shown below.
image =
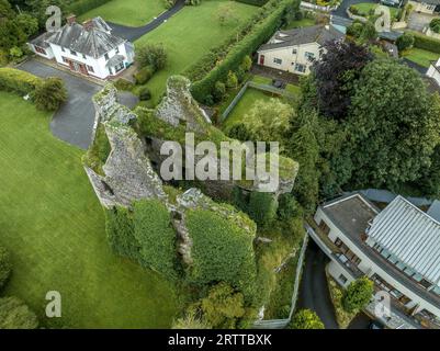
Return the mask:
POLYGON ((308 43, 324 45, 326 42, 341 38, 343 38, 343 34, 332 25, 314 25, 290 31, 278 31, 268 44, 259 48, 259 52, 308 43))

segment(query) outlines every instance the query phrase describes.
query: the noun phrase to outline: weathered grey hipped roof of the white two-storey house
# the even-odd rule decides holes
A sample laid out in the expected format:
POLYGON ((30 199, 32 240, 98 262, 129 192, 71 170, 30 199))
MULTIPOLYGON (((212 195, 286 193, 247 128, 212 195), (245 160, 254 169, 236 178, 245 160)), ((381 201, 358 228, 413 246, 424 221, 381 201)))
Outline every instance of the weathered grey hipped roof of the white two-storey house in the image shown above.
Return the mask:
POLYGON ((88 30, 78 23, 66 24, 47 41, 94 58, 125 42, 122 37, 113 35, 110 26, 101 18, 93 19, 88 30))

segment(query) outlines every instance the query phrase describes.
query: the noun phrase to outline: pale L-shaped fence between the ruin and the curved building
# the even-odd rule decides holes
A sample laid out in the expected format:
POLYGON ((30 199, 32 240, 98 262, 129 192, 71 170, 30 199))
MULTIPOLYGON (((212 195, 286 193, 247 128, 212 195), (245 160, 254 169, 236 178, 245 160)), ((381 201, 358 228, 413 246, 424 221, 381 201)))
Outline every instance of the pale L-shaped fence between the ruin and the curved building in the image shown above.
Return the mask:
POLYGON ((289 313, 289 318, 284 319, 269 319, 269 320, 257 320, 253 324, 253 328, 256 329, 283 329, 285 328, 290 321, 292 320, 293 313, 295 312, 298 291, 300 291, 300 283, 301 283, 301 273, 303 272, 303 263, 305 258, 305 250, 307 249, 308 244, 308 235, 304 236, 303 246, 301 247, 298 262, 296 264, 296 272, 295 272, 295 284, 293 286, 293 294, 291 299, 291 310, 289 313))

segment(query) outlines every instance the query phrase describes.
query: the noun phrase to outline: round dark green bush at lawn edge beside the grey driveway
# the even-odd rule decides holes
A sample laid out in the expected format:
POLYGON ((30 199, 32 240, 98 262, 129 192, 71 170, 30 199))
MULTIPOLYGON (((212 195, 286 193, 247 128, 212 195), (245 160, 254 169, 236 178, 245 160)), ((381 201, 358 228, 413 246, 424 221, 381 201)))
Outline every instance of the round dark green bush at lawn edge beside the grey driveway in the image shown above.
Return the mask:
POLYGON ((66 102, 67 90, 60 78, 50 77, 36 87, 33 98, 37 109, 56 111, 66 102))

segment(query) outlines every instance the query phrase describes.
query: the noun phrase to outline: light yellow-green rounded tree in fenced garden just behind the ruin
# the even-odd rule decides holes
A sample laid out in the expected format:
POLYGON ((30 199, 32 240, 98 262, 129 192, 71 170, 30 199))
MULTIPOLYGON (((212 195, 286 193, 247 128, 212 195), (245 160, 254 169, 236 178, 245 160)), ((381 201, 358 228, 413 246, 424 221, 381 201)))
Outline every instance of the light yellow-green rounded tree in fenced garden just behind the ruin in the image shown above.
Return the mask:
POLYGON ((257 100, 244 116, 242 123, 256 140, 281 144, 289 131, 289 121, 294 114, 293 107, 279 99, 257 100))

